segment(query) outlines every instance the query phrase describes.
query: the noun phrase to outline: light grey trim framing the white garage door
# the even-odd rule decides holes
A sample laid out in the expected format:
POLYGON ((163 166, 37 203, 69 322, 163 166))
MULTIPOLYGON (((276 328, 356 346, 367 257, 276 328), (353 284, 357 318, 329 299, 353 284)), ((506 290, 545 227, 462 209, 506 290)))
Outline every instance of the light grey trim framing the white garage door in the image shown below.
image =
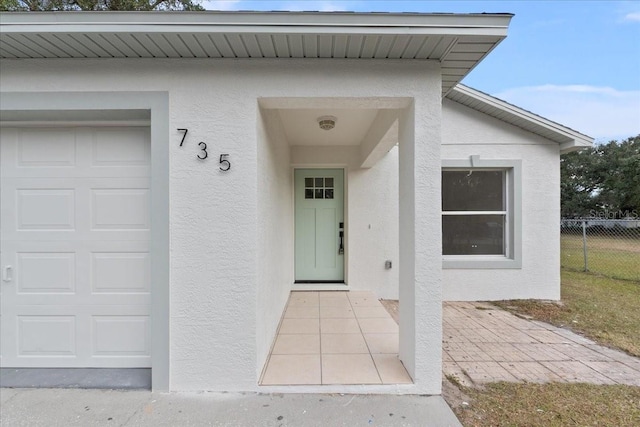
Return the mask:
MULTIPOLYGON (((168 92, 3 92, 0 111, 7 126, 38 125, 37 111, 54 122, 74 121, 73 111, 100 122, 105 111, 146 111, 151 133, 151 387, 170 389, 169 341, 169 94, 168 92)), ((77 121, 77 118, 75 119, 77 121)), ((83 123, 85 123, 83 121, 83 123)))

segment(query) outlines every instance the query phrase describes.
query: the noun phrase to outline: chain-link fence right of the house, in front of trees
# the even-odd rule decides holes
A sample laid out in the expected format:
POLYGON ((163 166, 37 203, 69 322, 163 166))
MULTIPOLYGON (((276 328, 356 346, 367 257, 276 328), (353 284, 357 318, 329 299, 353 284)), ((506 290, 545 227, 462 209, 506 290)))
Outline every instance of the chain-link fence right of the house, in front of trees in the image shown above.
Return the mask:
POLYGON ((561 265, 640 282, 640 219, 563 219, 561 265))

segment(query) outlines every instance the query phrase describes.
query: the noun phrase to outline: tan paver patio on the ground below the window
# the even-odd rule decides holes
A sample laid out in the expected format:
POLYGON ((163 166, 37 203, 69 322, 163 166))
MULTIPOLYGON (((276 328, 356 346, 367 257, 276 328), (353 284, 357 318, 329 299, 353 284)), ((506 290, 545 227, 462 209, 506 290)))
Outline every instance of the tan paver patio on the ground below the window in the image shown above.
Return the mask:
POLYGON ((465 385, 496 381, 640 386, 640 359, 566 329, 478 302, 444 304, 444 373, 465 385))

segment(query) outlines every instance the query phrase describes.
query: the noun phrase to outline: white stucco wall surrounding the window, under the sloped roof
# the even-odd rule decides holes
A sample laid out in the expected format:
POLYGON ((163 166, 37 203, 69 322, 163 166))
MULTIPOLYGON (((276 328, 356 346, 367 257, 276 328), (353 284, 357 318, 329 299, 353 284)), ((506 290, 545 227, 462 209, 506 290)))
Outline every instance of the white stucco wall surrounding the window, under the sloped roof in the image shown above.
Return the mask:
POLYGON ((559 299, 559 145, 446 99, 442 115, 443 159, 522 160, 522 268, 445 268, 444 300, 559 299))

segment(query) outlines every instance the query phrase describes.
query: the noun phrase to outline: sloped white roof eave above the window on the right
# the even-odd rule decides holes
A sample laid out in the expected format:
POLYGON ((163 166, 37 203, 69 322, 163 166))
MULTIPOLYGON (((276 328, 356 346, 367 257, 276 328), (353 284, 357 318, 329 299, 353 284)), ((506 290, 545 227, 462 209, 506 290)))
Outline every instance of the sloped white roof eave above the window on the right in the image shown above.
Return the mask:
POLYGON ((590 136, 462 84, 452 88, 447 94, 447 98, 513 126, 555 141, 560 144, 562 153, 593 145, 593 138, 590 136))

